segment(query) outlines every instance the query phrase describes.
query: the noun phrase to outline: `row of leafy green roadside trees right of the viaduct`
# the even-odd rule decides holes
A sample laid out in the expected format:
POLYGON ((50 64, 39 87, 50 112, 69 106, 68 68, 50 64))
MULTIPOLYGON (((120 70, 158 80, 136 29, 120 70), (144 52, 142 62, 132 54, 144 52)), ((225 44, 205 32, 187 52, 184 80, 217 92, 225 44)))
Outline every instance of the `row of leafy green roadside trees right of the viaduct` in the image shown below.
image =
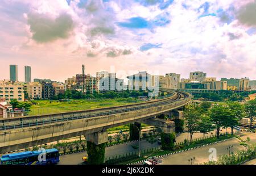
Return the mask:
POLYGON ((246 117, 250 118, 250 128, 256 116, 256 99, 246 102, 244 105, 238 102, 227 102, 226 106, 203 102, 200 105, 190 104, 185 107, 184 118, 185 127, 190 134, 192 141, 193 133, 201 132, 207 134, 216 129, 217 139, 220 136, 221 128, 231 127, 233 129, 239 121, 246 117))

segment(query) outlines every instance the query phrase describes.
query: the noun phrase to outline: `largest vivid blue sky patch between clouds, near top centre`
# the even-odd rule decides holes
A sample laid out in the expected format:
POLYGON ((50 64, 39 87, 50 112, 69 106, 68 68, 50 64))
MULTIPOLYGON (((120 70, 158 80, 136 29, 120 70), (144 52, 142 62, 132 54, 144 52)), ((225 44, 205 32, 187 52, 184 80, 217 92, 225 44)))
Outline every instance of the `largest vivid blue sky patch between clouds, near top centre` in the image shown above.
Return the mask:
POLYGON ((127 20, 127 22, 119 22, 117 23, 120 27, 126 28, 147 28, 148 22, 146 19, 141 17, 134 17, 127 20))

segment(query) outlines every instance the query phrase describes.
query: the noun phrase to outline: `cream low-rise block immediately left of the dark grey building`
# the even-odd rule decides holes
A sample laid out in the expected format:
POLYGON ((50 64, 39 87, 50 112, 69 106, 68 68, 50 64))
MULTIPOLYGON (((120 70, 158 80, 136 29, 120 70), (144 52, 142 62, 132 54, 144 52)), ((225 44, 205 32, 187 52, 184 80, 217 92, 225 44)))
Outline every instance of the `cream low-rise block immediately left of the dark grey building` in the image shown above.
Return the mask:
POLYGON ((29 82, 27 84, 27 94, 29 99, 41 99, 43 87, 39 82, 29 82))

